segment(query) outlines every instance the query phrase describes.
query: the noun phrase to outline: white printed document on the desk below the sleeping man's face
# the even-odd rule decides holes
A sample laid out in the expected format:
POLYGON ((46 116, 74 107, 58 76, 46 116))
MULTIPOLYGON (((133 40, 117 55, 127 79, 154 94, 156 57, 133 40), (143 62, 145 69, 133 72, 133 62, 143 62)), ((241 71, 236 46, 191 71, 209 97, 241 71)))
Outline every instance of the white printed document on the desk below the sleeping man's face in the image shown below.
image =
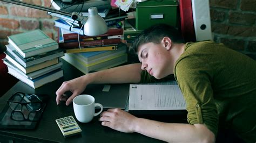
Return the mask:
POLYGON ((130 84, 129 110, 185 110, 178 85, 130 84))

